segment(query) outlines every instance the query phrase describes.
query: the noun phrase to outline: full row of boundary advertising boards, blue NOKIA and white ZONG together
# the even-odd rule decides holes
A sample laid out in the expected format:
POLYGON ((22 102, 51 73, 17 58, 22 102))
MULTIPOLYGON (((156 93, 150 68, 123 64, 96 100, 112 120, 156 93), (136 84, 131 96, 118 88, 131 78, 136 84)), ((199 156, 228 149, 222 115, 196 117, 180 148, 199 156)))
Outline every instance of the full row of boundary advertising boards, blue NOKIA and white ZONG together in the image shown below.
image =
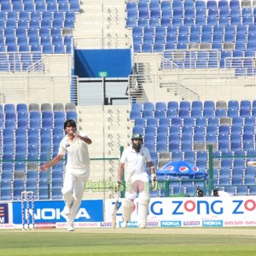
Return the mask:
MULTIPOLYGON (((232 227, 255 226, 256 196, 154 198, 150 200, 148 227, 232 227)), ((66 228, 63 201, 35 201, 36 228, 66 228)), ((75 219, 75 227, 112 227, 114 200, 86 200, 75 219), (105 209, 105 214, 103 213, 105 209)), ((137 201, 128 227, 137 227, 137 201)), ((20 201, 0 203, 0 229, 21 228, 20 201)), ((117 212, 121 224, 122 200, 117 212)), ((32 212, 29 212, 32 218, 32 212)))

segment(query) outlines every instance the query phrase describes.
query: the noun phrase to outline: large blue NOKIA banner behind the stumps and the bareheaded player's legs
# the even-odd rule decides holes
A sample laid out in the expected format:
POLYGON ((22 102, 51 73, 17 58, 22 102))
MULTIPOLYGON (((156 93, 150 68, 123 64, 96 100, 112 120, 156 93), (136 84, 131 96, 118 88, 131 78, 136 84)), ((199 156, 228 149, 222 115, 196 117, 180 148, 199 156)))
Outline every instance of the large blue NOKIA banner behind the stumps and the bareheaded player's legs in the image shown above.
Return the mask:
MULTIPOLYGON (((43 223, 66 222, 67 217, 63 213, 63 207, 64 207, 64 201, 35 201, 34 202, 35 223, 43 224, 43 223)), ((13 202, 13 219, 15 224, 21 224, 20 209, 21 209, 20 201, 13 202)), ((102 200, 83 200, 81 203, 81 206, 79 207, 79 211, 76 215, 75 222, 103 221, 102 212, 103 212, 102 200)), ((30 216, 32 216, 32 210, 30 210, 29 213, 30 213, 30 216)))

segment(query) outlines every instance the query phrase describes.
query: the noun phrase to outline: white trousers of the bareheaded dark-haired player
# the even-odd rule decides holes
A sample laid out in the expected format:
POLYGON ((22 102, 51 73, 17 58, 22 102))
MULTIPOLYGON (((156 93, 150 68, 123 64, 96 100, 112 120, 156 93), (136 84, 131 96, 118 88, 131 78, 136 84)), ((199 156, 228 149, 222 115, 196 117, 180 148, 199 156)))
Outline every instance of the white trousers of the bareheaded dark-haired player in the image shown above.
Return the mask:
MULTIPOLYGON (((80 170, 79 170, 80 171, 80 170)), ((63 187, 61 189, 64 200, 67 205, 71 205, 73 201, 72 211, 67 215, 67 223, 73 224, 76 218, 77 212, 81 205, 81 201, 84 195, 84 182, 90 176, 90 168, 81 174, 76 170, 66 170, 63 187)))

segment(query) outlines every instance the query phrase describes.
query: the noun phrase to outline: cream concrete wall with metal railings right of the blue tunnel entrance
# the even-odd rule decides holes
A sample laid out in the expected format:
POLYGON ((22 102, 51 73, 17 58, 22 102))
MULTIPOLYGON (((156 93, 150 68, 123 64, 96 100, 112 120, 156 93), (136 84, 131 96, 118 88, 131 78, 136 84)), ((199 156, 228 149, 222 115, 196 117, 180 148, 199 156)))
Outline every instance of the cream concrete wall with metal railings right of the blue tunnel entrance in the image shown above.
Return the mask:
POLYGON ((134 55, 137 74, 129 77, 130 101, 253 100, 256 93, 255 59, 226 58, 220 68, 218 56, 218 50, 196 51, 196 55, 192 50, 134 55), (201 62, 205 68, 196 68, 199 53, 201 59, 207 58, 208 64, 201 62))

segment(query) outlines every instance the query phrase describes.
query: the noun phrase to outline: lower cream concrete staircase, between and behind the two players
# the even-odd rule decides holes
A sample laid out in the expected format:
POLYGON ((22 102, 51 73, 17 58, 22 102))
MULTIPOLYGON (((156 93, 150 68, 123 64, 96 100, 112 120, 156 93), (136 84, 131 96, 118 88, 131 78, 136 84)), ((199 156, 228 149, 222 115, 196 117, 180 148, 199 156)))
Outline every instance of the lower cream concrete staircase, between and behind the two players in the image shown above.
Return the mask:
MULTIPOLYGON (((113 189, 109 183, 117 180, 120 147, 126 147, 131 131, 127 106, 80 106, 79 130, 84 131, 92 140, 90 150, 90 181, 100 183, 106 181, 106 193, 84 192, 84 198, 109 198, 113 196, 113 189), (102 160, 103 158, 108 160, 102 160)), ((91 192, 91 191, 89 191, 91 192)))

